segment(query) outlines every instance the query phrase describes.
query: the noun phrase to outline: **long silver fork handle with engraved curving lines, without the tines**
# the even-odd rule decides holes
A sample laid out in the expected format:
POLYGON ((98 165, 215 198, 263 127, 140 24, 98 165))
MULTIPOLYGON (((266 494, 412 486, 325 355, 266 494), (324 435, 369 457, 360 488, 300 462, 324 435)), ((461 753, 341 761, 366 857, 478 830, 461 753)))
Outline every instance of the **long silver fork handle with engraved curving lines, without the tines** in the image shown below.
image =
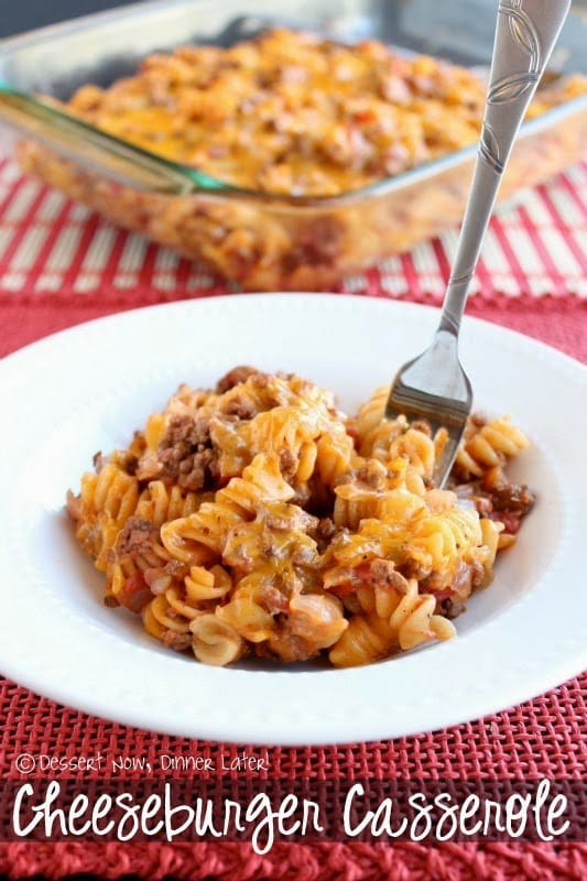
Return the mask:
POLYGON ((570 0, 500 0, 479 151, 438 330, 458 335, 503 170, 569 8, 570 0))

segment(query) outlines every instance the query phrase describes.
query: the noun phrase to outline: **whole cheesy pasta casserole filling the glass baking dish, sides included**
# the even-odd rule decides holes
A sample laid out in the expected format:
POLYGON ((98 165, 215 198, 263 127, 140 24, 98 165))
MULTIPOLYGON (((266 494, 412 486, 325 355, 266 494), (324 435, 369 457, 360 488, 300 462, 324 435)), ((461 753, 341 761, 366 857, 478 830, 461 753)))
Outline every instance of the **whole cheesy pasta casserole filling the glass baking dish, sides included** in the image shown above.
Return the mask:
MULTIPOLYGON (((480 76, 438 58, 279 28, 229 47, 151 53, 132 76, 56 102, 221 182, 213 191, 138 189, 33 140, 19 156, 73 199, 246 290, 328 290, 461 220, 474 152, 435 161, 478 141, 485 90, 480 76)), ((565 78, 541 88, 530 116, 586 94, 586 77, 565 78)), ((500 197, 580 160, 586 122, 577 107, 519 139, 500 197)))

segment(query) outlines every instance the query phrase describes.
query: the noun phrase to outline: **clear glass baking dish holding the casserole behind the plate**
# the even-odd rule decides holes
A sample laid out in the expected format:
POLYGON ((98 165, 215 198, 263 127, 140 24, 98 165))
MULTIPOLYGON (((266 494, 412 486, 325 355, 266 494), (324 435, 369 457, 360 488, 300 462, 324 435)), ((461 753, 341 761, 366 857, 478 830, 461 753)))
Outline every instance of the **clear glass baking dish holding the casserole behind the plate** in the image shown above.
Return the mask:
MULTIPOLYGON (((0 43, 0 119, 21 166, 109 220, 202 261, 244 290, 324 290, 460 220, 476 146, 352 193, 270 195, 228 186, 132 148, 34 99, 107 86, 154 52, 231 45, 273 24, 347 43, 378 39, 470 66, 487 63, 494 3, 430 0, 164 0, 139 3, 0 43), (26 139, 22 139, 22 133, 26 139)), ((585 73, 573 17, 556 73, 585 73), (583 69, 581 69, 583 68, 583 69)), ((556 57, 558 62, 556 62, 556 57)), ((524 123, 500 198, 586 154, 587 96, 524 123)))

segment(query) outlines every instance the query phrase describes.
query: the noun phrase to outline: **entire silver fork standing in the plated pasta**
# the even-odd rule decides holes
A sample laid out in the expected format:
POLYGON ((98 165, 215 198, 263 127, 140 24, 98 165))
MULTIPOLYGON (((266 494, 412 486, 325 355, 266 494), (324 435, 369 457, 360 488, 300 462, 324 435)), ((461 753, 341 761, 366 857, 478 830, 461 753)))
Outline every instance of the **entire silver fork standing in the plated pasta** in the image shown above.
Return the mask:
POLYGON ((458 358, 458 331, 497 192, 518 130, 546 67, 570 0, 500 0, 479 152, 465 217, 432 345, 393 380, 385 418, 425 420, 446 427, 434 483, 443 487, 472 404, 458 358))

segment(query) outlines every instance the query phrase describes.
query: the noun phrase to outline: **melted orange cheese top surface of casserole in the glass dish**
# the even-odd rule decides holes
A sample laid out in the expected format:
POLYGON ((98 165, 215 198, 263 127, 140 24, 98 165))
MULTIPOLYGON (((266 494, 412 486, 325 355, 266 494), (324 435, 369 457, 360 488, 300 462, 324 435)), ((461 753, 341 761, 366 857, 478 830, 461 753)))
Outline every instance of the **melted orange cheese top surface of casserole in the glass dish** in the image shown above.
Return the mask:
MULTIPOLYGON (((579 75, 543 89, 531 116, 587 91, 579 75)), ((153 54, 67 109, 219 181, 328 196, 373 184, 479 139, 486 83, 377 40, 345 45, 284 28, 228 48, 153 54)))

